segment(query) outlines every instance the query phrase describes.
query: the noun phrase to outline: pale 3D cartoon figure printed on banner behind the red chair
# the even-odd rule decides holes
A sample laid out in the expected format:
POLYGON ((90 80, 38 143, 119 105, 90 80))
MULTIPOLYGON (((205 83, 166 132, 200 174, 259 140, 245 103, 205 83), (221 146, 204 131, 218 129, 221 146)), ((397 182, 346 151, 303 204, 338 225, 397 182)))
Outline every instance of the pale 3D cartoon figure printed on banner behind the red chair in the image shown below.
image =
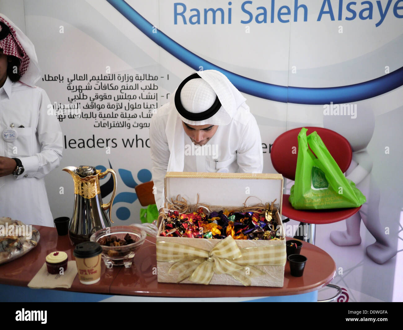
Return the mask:
MULTIPOLYGON (((337 105, 333 105, 335 106, 337 105)), ((323 118, 324 128, 341 134, 350 142, 353 159, 346 171, 346 177, 353 181, 367 198, 361 209, 346 219, 347 231, 332 231, 330 240, 339 246, 361 244, 359 227, 362 219, 368 231, 376 239, 374 244, 367 246, 367 255, 374 262, 384 264, 395 256, 397 251, 391 246, 389 235, 385 233, 385 228, 380 223, 380 191, 371 174, 372 159, 367 151, 374 133, 375 116, 372 109, 360 111, 359 106, 357 108, 356 118, 352 115, 324 115, 323 118)))

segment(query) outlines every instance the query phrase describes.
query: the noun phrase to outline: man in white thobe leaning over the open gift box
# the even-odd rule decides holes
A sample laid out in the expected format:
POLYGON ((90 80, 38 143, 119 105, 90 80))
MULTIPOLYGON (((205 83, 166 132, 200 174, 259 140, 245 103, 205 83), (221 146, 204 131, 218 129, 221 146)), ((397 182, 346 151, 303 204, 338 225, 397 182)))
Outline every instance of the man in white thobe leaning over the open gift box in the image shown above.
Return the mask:
MULTIPOLYGON (((245 98, 219 71, 187 77, 152 116, 154 196, 164 204, 167 171, 262 173, 262 140, 245 98)), ((225 192, 223 192, 225 193, 225 192)))

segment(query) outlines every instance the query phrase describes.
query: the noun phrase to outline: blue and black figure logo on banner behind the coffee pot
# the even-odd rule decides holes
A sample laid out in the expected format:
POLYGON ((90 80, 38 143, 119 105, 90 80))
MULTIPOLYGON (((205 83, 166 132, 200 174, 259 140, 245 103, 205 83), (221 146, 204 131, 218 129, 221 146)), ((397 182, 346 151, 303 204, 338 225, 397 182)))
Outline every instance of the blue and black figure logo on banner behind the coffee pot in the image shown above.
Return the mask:
MULTIPOLYGON (((110 168, 112 168, 112 165, 109 162, 110 168)), ((102 172, 106 171, 106 167, 102 165, 96 166, 96 169, 100 169, 102 172)), ((137 182, 133 178, 133 174, 131 171, 127 169, 118 169, 118 173, 120 175, 120 178, 122 179, 123 183, 134 190, 135 186, 137 186, 137 182)), ((137 173, 137 179, 140 181, 140 183, 148 182, 151 181, 151 172, 148 169, 141 169, 137 173)), ((102 180, 102 179, 101 179, 102 180)), ((113 191, 113 178, 112 176, 110 179, 103 185, 101 185, 101 196, 102 198, 108 196, 111 192, 113 191)), ((119 202, 125 202, 125 203, 130 203, 133 204, 137 200, 137 194, 135 192, 120 192, 118 193, 114 200, 112 206, 114 206, 116 203, 119 202)), ((120 206, 116 210, 116 217, 119 220, 127 220, 130 217, 130 210, 129 208, 125 206, 120 206)))

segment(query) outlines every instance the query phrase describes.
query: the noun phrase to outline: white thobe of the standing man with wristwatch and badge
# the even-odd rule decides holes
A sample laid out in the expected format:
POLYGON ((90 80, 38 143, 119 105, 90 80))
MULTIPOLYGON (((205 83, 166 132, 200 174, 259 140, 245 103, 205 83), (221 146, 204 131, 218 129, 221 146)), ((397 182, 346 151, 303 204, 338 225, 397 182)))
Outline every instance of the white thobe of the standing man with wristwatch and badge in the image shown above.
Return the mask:
POLYGON ((14 124, 17 140, 0 138, 0 156, 19 158, 24 173, 0 177, 0 217, 53 227, 44 176, 62 158, 62 131, 46 92, 7 78, 0 88, 0 132, 14 124), (19 128, 19 126, 24 126, 19 128))

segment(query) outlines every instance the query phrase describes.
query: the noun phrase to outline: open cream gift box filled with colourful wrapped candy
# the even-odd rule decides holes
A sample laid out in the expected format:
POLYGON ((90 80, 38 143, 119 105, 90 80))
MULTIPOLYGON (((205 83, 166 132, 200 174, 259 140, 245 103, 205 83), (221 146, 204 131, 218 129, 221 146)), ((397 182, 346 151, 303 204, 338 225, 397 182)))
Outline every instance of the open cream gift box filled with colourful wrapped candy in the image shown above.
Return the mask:
POLYGON ((158 282, 283 287, 283 176, 168 172, 158 282))

